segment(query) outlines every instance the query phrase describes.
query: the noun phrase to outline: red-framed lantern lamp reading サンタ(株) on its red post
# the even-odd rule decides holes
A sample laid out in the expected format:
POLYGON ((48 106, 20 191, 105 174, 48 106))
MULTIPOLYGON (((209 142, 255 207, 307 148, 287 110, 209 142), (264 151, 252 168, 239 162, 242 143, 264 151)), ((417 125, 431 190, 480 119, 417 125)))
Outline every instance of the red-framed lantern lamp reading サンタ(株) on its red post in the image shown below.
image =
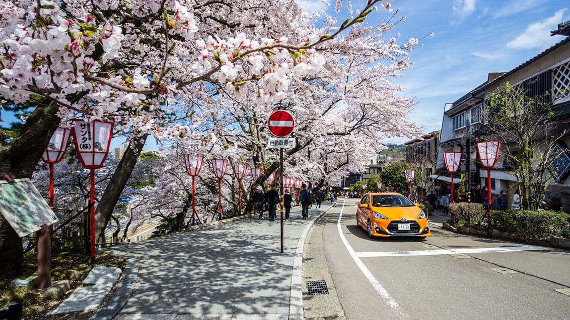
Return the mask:
POLYGON ((91 197, 89 199, 89 213, 91 223, 89 224, 91 235, 91 263, 95 262, 95 169, 103 167, 103 163, 109 153, 111 136, 113 135, 113 123, 93 120, 84 121, 74 119, 75 126, 71 131, 73 135, 75 150, 83 168, 91 169, 91 197))

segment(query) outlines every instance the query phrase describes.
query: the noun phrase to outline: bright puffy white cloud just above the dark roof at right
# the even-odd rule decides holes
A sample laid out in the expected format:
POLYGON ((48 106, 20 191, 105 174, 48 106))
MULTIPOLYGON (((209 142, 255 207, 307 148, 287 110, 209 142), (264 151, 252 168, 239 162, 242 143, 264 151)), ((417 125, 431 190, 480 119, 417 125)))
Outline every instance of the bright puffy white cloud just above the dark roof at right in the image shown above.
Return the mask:
POLYGON ((513 49, 546 49, 551 47, 551 45, 562 40, 559 37, 550 36, 550 31, 555 30, 557 24, 562 22, 564 11, 566 9, 560 9, 550 18, 529 24, 523 34, 507 43, 507 47, 513 49))

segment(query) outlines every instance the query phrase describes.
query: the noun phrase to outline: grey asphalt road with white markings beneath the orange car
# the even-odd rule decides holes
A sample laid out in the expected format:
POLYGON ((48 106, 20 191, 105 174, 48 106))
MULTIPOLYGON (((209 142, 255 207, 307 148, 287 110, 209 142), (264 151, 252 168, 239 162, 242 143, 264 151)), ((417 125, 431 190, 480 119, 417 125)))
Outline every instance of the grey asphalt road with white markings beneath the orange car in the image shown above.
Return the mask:
POLYGON ((331 294, 304 297, 306 319, 570 319, 570 252, 454 234, 438 215, 425 241, 369 239, 355 211, 339 203, 307 237, 303 275, 331 294))

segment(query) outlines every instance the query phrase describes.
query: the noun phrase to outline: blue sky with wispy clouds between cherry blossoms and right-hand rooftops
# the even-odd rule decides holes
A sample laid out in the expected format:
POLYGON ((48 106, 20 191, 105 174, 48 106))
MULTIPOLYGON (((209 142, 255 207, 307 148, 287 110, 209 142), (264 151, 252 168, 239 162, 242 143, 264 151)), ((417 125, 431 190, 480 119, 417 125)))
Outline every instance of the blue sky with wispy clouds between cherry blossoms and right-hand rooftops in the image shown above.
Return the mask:
MULTIPOLYGON (((360 2, 352 1, 354 9, 360 2)), ((314 10, 320 2, 304 3, 314 10)), ((487 80, 488 73, 512 70, 563 40, 564 36, 551 36, 550 31, 570 20, 570 3, 559 0, 394 0, 390 4, 406 21, 386 36, 399 32, 405 42, 434 33, 412 51, 414 68, 395 80, 408 88, 406 95, 417 97, 419 103, 410 119, 424 133, 441 130, 445 103, 475 89, 487 80)), ((378 24, 389 16, 378 10, 367 20, 378 24)), ((340 21, 344 18, 339 15, 340 21)))

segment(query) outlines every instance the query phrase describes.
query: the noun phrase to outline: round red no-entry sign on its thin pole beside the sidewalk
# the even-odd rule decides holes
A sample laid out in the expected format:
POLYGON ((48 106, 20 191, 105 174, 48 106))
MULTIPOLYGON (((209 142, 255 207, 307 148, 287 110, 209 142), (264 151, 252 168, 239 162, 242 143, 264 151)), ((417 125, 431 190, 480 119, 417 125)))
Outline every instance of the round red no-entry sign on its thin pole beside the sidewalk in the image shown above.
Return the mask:
MULTIPOLYGON (((272 113, 267 120, 267 127, 272 135, 277 138, 287 138, 295 128, 295 119, 285 110, 272 113)), ((295 148, 295 139, 268 139, 268 147, 279 148, 279 196, 281 207, 281 253, 283 253, 283 148, 295 148)))

